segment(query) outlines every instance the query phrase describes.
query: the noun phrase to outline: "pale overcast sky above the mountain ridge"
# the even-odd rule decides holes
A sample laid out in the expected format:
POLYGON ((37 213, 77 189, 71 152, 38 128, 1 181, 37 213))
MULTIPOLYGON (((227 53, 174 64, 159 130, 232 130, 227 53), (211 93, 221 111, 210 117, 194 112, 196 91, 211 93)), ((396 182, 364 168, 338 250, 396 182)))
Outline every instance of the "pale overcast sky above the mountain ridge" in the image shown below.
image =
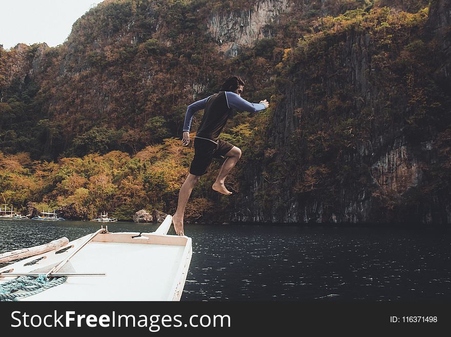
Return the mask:
POLYGON ((55 47, 66 41, 72 25, 103 0, 0 0, 0 45, 45 42, 55 47))

